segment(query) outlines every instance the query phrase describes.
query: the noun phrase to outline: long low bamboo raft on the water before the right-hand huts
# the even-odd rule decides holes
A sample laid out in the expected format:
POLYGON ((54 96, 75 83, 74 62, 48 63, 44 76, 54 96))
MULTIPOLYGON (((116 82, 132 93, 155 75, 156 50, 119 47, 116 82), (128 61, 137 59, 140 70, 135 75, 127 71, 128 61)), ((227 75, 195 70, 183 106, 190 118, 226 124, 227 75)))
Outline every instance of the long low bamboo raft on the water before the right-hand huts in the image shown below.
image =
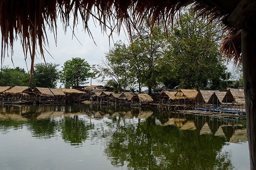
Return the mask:
POLYGON ((195 115, 201 115, 201 116, 226 117, 226 118, 228 117, 238 118, 238 117, 244 116, 240 114, 221 113, 221 112, 213 112, 213 111, 198 111, 198 110, 177 111, 177 112, 183 113, 183 114, 195 114, 195 115))

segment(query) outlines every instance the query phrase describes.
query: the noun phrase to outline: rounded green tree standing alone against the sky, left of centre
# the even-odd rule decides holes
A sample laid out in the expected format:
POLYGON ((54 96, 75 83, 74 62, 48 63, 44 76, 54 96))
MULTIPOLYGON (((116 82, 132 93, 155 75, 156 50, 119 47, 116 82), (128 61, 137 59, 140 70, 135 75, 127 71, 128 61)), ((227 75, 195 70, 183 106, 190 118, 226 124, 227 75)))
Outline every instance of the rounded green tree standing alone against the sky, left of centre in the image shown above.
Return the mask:
POLYGON ((88 78, 95 74, 90 72, 90 65, 84 59, 79 57, 67 60, 62 66, 61 82, 66 88, 70 86, 79 86, 87 83, 88 78))

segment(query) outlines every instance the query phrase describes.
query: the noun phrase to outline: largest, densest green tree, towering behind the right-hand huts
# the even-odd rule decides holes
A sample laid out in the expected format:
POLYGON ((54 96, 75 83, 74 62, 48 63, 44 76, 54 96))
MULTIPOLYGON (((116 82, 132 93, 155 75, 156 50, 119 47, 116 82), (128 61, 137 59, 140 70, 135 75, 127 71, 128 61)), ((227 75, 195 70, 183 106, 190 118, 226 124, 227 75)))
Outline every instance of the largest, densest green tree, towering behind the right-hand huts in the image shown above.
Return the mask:
POLYGON ((174 24, 161 81, 171 88, 225 88, 230 73, 220 59, 221 27, 195 15, 186 9, 174 24))

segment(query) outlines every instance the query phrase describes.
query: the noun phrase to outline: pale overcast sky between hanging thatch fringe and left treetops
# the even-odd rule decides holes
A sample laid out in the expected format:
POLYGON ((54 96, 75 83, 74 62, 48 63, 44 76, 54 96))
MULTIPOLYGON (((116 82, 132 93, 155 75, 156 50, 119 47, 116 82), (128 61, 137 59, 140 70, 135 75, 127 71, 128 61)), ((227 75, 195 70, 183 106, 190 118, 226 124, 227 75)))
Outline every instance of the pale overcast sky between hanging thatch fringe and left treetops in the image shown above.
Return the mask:
MULTIPOLYGON (((107 34, 102 34, 100 26, 95 27, 94 23, 91 22, 89 25, 90 31, 93 34, 93 39, 89 37, 89 34, 84 32, 82 24, 79 24, 75 28, 75 35, 77 37, 72 38, 72 29, 68 28, 65 34, 62 29, 62 24, 58 23, 57 32, 57 46, 55 45, 54 35, 48 31, 47 36, 49 40, 49 47, 46 47, 52 57, 45 51, 45 59, 47 62, 53 62, 60 64, 59 70, 65 61, 72 57, 81 57, 85 59, 90 65, 98 64, 100 59, 105 57, 105 53, 113 47, 113 43, 117 40, 122 40, 127 43, 125 32, 122 31, 118 36, 117 33, 113 33, 113 40, 109 41, 107 34), (95 43, 93 42, 95 41, 95 43), (109 43, 110 42, 110 43, 109 43)), ((26 62, 20 40, 17 40, 14 44, 13 62, 15 67, 26 68, 26 62)), ((38 48, 39 49, 39 48, 38 48)), ((41 55, 37 53, 35 63, 44 62, 41 55)), ((27 65, 30 69, 31 59, 28 56, 27 65)), ((9 65, 9 68, 13 68, 11 57, 5 57, 3 65, 9 65)), ((89 85, 88 83, 87 85, 89 85)), ((92 81, 93 85, 99 84, 96 80, 92 81)), ((59 87, 60 83, 58 83, 59 87)))

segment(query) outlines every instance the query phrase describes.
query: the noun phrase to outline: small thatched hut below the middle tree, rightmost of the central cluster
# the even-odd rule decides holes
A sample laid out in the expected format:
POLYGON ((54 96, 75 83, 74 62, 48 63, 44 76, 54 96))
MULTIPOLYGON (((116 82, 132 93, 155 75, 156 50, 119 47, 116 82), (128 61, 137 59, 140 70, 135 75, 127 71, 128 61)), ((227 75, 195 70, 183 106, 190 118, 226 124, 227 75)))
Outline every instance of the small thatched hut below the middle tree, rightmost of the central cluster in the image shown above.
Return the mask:
POLYGON ((151 102, 154 102, 151 96, 148 94, 135 94, 131 98, 131 105, 132 106, 139 106, 150 104, 151 102))

